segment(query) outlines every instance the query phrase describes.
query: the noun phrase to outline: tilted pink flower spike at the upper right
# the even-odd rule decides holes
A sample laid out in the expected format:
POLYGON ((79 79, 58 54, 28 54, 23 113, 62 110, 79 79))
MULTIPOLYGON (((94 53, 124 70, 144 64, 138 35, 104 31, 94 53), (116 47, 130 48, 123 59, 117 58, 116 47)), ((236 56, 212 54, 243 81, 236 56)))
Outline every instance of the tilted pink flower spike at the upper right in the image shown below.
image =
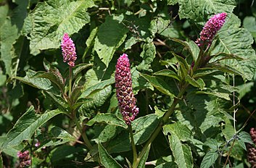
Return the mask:
POLYGON ((213 17, 210 18, 210 20, 205 23, 205 26, 204 28, 202 28, 202 31, 200 33, 200 38, 197 38, 196 41, 198 46, 202 46, 202 44, 204 43, 208 46, 211 45, 216 33, 224 25, 226 16, 227 14, 224 12, 220 14, 215 14, 213 17))

